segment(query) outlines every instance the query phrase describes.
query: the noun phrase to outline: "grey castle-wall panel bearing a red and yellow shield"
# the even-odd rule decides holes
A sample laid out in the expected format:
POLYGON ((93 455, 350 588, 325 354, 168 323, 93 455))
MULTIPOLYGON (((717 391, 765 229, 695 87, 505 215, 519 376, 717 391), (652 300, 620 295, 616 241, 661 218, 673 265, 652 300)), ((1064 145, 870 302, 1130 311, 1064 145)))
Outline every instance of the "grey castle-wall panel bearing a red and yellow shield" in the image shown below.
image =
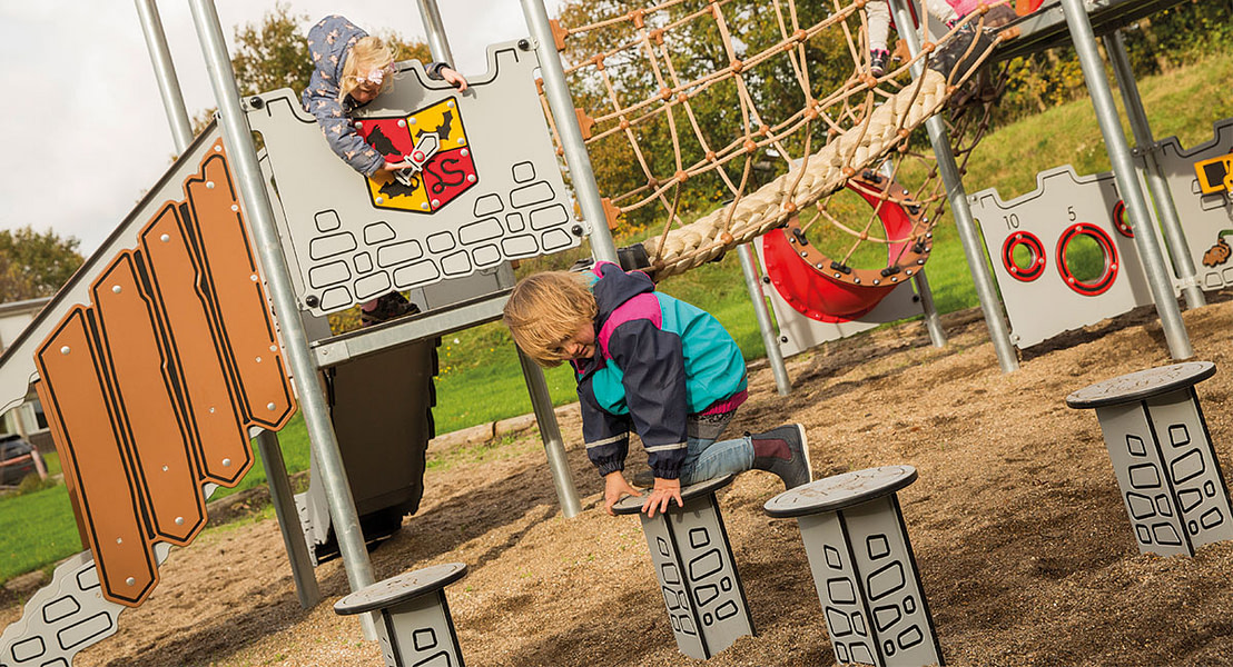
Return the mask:
POLYGON ((439 142, 411 185, 353 171, 296 91, 245 101, 265 142, 296 293, 314 315, 581 242, 535 89, 534 50, 490 47, 488 71, 470 76, 466 92, 427 79, 419 63, 397 66, 393 90, 356 122, 370 143, 399 154, 439 142))

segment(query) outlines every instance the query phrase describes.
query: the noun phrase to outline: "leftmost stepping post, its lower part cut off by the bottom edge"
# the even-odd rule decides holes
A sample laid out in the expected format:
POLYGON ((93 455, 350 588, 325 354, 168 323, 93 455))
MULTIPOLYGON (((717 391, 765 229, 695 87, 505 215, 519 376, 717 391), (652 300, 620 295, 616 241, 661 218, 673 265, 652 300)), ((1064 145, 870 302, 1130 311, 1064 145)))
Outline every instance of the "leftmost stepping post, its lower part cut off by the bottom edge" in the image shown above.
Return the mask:
POLYGON ((377 639, 387 667, 462 667, 445 586, 464 576, 461 562, 424 567, 361 588, 334 603, 334 612, 380 613, 377 639))

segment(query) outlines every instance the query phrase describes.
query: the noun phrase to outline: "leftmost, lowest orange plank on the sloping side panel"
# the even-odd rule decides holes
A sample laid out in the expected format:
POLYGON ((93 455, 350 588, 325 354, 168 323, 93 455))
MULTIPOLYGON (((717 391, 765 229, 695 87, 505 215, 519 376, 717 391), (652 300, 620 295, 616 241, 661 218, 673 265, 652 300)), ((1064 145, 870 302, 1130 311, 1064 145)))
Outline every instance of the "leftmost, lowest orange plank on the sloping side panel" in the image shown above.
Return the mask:
POLYGON ((72 475, 104 593, 136 607, 158 583, 158 570, 85 308, 76 306, 64 318, 39 348, 36 364, 47 397, 43 409, 64 437, 70 461, 64 465, 65 475, 72 475))

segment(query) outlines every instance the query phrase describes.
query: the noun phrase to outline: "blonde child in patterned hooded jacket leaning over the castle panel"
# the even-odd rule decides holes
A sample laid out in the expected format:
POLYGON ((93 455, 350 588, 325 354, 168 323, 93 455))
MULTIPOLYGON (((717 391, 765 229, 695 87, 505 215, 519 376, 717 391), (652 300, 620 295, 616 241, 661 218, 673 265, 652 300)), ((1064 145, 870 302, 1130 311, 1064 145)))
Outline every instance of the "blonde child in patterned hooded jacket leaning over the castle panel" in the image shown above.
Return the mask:
MULTIPOLYGON (((374 176, 380 171, 398 171, 411 162, 387 162, 353 127, 356 110, 393 86, 393 49, 380 37, 372 37, 343 16, 327 16, 308 31, 308 52, 313 73, 300 97, 305 111, 317 118, 329 148, 355 171, 374 176)), ((445 63, 429 63, 428 76, 467 87, 466 79, 445 63)), ((397 292, 360 306, 364 325, 414 313, 414 305, 397 292)))

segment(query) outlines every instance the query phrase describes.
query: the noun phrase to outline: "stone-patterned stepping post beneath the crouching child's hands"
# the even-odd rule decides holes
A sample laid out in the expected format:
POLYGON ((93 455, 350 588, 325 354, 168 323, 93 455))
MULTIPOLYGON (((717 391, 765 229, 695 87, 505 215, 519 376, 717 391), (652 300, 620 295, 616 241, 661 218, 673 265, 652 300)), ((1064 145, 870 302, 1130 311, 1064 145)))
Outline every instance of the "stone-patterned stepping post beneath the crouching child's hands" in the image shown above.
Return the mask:
POLYGON ((682 487, 684 507, 672 505, 652 518, 640 514, 645 496, 625 497, 613 506, 618 514, 642 519, 677 649, 697 660, 756 634, 715 498, 715 491, 731 481, 732 475, 724 475, 682 487))

